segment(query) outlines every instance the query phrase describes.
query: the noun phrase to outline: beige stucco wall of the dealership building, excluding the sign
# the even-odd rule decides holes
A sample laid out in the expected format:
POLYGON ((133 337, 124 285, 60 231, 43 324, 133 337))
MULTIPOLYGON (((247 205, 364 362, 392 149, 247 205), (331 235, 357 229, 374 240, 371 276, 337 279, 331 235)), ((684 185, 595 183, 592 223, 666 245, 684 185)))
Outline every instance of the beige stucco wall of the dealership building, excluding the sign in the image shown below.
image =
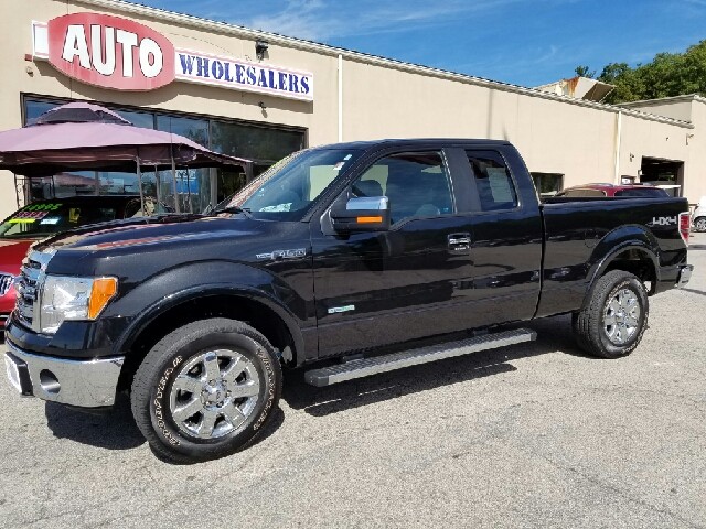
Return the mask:
MULTIPOLYGON (((697 141, 706 145, 706 133, 699 139, 698 132, 684 123, 635 117, 630 115, 631 111, 619 118, 614 107, 582 106, 567 98, 394 64, 325 46, 285 42, 274 35, 264 35, 270 43, 265 62, 311 72, 314 77, 313 102, 186 83, 172 83, 150 93, 106 90, 71 80, 46 62, 24 60, 24 55, 32 51, 32 20, 44 22, 81 11, 136 20, 168 36, 176 47, 254 60, 258 35, 252 31, 217 24, 206 24, 206 30, 195 28, 186 18, 167 20, 169 17, 146 8, 103 0, 99 3, 97 7, 93 0, 0 2, 0 46, 6 58, 0 91, 0 130, 22 125, 20 95, 25 93, 295 126, 308 130, 310 145, 335 142, 339 139, 338 55, 341 53, 344 141, 385 137, 507 139, 517 145, 531 171, 565 174, 564 183, 569 186, 616 181, 620 121, 618 176, 637 175, 642 155, 684 160, 687 165, 685 191, 689 198, 696 201, 696 195, 706 194, 700 183, 704 179, 692 170, 692 163, 704 166, 702 162, 706 161, 702 160, 706 156, 706 149, 696 153, 697 141), (260 101, 267 107, 265 110, 258 106, 260 101), (689 145, 685 141, 687 133, 695 133, 689 145), (692 181, 696 177, 698 183, 692 181)), ((199 24, 204 25, 203 22, 199 24)), ((706 105, 699 106, 696 116, 706 127, 706 105)), ((1 173, 0 215, 7 215, 15 207, 12 187, 11 174, 1 173)))

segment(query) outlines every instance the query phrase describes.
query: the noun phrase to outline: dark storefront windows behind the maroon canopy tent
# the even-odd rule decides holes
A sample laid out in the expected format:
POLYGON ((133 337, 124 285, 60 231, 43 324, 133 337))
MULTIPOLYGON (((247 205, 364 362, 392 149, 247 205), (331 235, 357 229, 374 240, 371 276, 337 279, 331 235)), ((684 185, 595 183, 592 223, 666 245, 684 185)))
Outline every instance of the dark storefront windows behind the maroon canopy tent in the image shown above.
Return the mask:
MULTIPOLYGON (((25 123, 47 110, 71 100, 44 100, 24 98, 25 123)), ((171 171, 143 170, 142 192, 171 209, 200 213, 208 206, 242 190, 249 180, 267 170, 272 163, 304 147, 301 130, 267 128, 248 123, 228 122, 208 118, 193 118, 141 109, 110 107, 136 127, 154 129, 183 136, 216 152, 250 160, 248 169, 180 169, 175 179, 171 171)), ((113 171, 79 171, 33 177, 25 186, 29 201, 87 194, 139 195, 135 173, 113 171)))

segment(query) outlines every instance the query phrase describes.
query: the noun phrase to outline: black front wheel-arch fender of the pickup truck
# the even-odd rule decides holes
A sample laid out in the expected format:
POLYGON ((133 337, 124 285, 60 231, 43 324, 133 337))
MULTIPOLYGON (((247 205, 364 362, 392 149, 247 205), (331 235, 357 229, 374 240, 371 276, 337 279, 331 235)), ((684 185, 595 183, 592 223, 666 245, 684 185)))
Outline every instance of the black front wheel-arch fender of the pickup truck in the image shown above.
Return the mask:
POLYGON ((108 305, 106 317, 122 315, 130 321, 115 344, 116 354, 128 354, 142 331, 160 315, 182 303, 211 295, 247 298, 265 305, 285 322, 296 350, 303 353, 301 327, 306 325, 306 300, 289 284, 264 269, 229 261, 203 261, 154 276, 108 305), (211 280, 196 282, 199 278, 211 280), (135 307, 140 309, 136 314, 130 310, 135 307))

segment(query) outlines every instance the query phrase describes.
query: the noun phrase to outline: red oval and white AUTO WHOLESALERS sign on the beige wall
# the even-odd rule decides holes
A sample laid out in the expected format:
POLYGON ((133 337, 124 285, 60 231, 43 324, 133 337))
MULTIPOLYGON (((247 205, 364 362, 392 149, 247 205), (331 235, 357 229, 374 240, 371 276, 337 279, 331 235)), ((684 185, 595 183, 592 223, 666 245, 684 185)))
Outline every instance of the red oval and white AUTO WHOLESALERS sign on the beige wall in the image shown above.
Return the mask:
POLYGON ((154 90, 174 80, 313 100, 308 72, 179 50, 151 28, 119 17, 72 13, 32 24, 33 56, 68 77, 115 90, 154 90))

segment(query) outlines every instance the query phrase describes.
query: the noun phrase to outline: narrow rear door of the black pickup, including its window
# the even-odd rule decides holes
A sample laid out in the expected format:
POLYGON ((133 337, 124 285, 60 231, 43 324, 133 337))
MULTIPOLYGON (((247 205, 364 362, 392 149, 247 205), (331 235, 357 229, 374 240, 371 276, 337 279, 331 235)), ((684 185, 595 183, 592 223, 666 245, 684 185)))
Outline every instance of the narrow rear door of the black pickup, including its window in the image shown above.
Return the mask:
POLYGON ((459 208, 467 212, 472 262, 469 326, 528 320, 541 291, 542 217, 536 191, 513 149, 459 149, 470 188, 459 208))

